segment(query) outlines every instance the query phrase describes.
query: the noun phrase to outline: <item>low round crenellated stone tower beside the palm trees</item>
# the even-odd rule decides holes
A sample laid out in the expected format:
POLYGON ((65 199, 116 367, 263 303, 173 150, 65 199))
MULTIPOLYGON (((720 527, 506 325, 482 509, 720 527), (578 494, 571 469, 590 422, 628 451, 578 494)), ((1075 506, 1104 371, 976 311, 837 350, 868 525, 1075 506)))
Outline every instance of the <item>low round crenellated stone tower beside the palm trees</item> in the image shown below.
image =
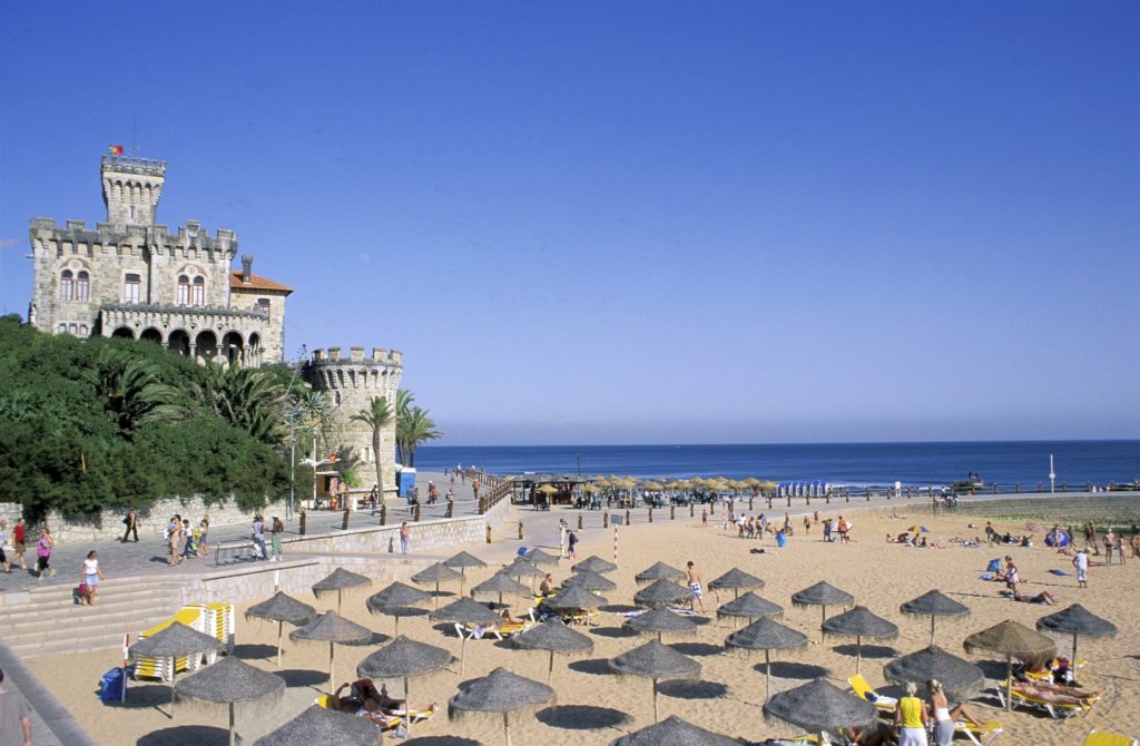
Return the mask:
MULTIPOLYGON (((352 446, 360 456, 358 475, 361 483, 372 486, 376 481, 377 454, 372 448, 372 429, 363 422, 353 422, 352 415, 370 406, 373 397, 382 396, 390 406, 396 406, 396 391, 400 388, 404 375, 404 354, 398 350, 385 350, 375 347, 372 356, 366 357, 363 347, 353 347, 348 357, 341 355, 341 348, 331 347, 325 350, 314 350, 312 359, 306 363, 301 371, 315 391, 324 391, 332 405, 328 417, 329 438, 327 449, 340 446, 352 446)), ((378 454, 384 476, 384 493, 396 493, 396 412, 391 422, 381 433, 381 453, 378 454)))

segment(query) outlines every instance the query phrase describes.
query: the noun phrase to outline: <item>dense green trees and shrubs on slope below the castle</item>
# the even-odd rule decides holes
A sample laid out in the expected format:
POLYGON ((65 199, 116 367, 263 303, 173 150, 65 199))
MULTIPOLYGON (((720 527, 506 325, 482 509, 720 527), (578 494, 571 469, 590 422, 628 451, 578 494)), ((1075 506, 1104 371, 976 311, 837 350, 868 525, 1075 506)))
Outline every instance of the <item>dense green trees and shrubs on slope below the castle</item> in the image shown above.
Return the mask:
POLYGON ((271 373, 0 317, 0 502, 33 518, 192 495, 261 506, 288 489, 280 391, 271 373))

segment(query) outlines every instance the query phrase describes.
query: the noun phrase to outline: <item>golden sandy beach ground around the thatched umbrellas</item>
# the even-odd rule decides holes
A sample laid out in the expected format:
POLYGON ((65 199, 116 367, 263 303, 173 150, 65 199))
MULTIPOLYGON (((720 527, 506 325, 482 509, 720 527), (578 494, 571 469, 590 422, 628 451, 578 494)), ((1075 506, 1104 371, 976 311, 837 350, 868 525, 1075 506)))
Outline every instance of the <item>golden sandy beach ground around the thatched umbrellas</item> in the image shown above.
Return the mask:
MULTIPOLYGON (((783 514, 782 510, 774 512, 781 517, 783 514)), ((823 517, 839 512, 841 511, 820 511, 823 517)), ((776 550, 771 538, 765 538, 763 543, 736 538, 734 532, 730 534, 720 529, 719 520, 710 520, 708 527, 701 527, 699 511, 695 519, 689 518, 687 511, 684 511, 682 518, 682 511, 678 511, 677 520, 674 521, 668 520, 662 511, 652 525, 642 522, 621 528, 619 569, 609 574, 618 587, 603 593, 610 605, 604 607, 596 624, 579 627, 594 640, 595 649, 589 655, 556 659, 553 680, 557 692, 555 706, 516 717, 518 725, 512 728, 514 743, 564 743, 572 739, 577 744, 608 744, 624 732, 652 723, 650 682, 608 673, 605 659, 645 641, 620 630, 624 618, 619 613, 632 608, 633 595, 637 591, 634 575, 659 560, 674 567, 684 567, 686 561, 694 561, 706 586, 709 581, 733 567, 764 578, 766 585, 758 593, 784 607, 782 622, 813 640, 806 649, 773 654, 773 694, 816 676, 826 676, 832 683, 846 688, 847 678, 855 673, 854 641, 829 639, 820 643, 820 610, 793 607, 790 598, 793 592, 825 579, 854 594, 856 603, 868 606, 873 613, 898 625, 898 639, 886 644, 864 642, 863 674, 873 686, 881 686, 885 683, 883 664, 896 655, 925 647, 929 639, 929 622, 926 618, 906 617, 899 613, 899 605, 937 587, 972 611, 967 617, 940 619, 937 638, 943 648, 978 663, 986 672, 988 690, 972 702, 986 716, 1002 722, 1004 733, 997 744, 1072 746, 1080 744, 1084 733, 1093 728, 1132 736, 1140 733, 1140 654, 1137 652, 1140 650, 1140 632, 1131 624, 1140 590, 1140 560, 1130 559, 1123 567, 1105 567, 1099 563, 1101 558, 1094 557, 1090 570, 1090 587, 1078 590, 1075 577, 1049 573, 1051 569, 1060 569, 1072 574, 1073 568, 1069 558, 1044 548, 1041 536, 1036 537, 1034 548, 988 548, 983 542, 982 548, 967 549, 950 543, 952 537, 983 534, 980 528, 967 528, 969 522, 984 525, 985 517, 977 512, 939 514, 935 518, 930 516, 928 506, 899 502, 894 508, 847 510, 845 514, 854 522, 854 541, 849 544, 824 543, 819 525, 813 526, 805 536, 800 518, 795 521, 796 536, 783 550, 776 550), (929 528, 927 536, 943 542, 945 549, 912 549, 885 542, 885 535, 896 535, 914 524, 929 528), (765 553, 750 552, 756 548, 765 549, 765 553), (1016 603, 999 594, 1003 584, 978 579, 990 559, 1007 553, 1013 556, 1020 568, 1025 581, 1024 590, 1029 593, 1048 590, 1058 598, 1058 606, 1016 603), (1074 602, 1112 621, 1121 630, 1116 639, 1081 643, 1080 657, 1086 659, 1089 665, 1078 672, 1078 680, 1086 689, 1101 692, 1100 703, 1086 716, 1077 716, 1065 723, 1054 722, 1037 712, 1000 712, 992 688, 1004 674, 1004 664, 985 655, 964 652, 962 640, 972 632, 1007 618, 1032 627, 1040 617, 1074 602)), ((518 518, 528 520, 531 516, 534 513, 522 510, 518 518)), ((573 520, 573 514, 569 511, 567 517, 573 520)), ((581 534, 579 559, 593 553, 603 559, 613 558, 613 532, 588 528, 591 524, 600 525, 600 520, 598 513, 587 513, 587 529, 581 534)), ((1026 533, 1023 520, 995 525, 999 530, 1026 533)), ((499 542, 491 546, 456 546, 454 551, 465 549, 477 556, 494 559, 497 565, 516 545, 518 542, 499 542)), ((441 554, 440 559, 445 556, 441 554)), ((570 565, 570 561, 564 560, 554 570, 555 579, 568 576, 570 565)), ((491 571, 488 568, 475 577, 482 579, 491 571)), ((372 616, 365 608, 365 598, 376 590, 380 589, 373 587, 368 592, 348 597, 344 615, 389 636, 392 634, 391 618, 372 616)), ((318 609, 328 608, 327 599, 318 601, 311 594, 300 598, 318 609)), ((722 600, 731 599, 730 592, 722 600)), ((239 608, 244 611, 260 600, 262 599, 253 599, 242 603, 239 608)), ((526 600, 520 600, 515 610, 524 611, 527 606, 526 600)), ((711 592, 707 592, 705 606, 709 618, 695 635, 666 638, 667 643, 699 662, 702 672, 699 681, 661 684, 661 716, 676 714, 694 724, 748 740, 796 735, 792 729, 768 724, 763 720, 763 654, 747 657, 725 652, 724 638, 740 625, 732 619, 716 618, 716 600, 711 592)), ((839 611, 840 609, 834 610, 839 611)), ((402 634, 458 652, 458 640, 454 631, 445 634, 442 629, 426 617, 406 618, 400 623, 402 634)), ((286 642, 284 665, 278 670, 274 660, 275 641, 275 625, 246 622, 239 614, 236 655, 258 667, 280 673, 288 683, 286 695, 279 703, 238 709, 237 730, 243 743, 252 743, 296 715, 327 687, 326 646, 286 642)), ((356 664, 375 649, 340 647, 336 650, 337 678, 341 681, 355 678, 352 674, 356 664)), ((1061 643, 1060 649, 1064 654, 1067 643, 1061 643)), ((174 716, 170 717, 170 690, 162 684, 132 684, 129 702, 124 706, 101 704, 96 696, 99 678, 105 671, 120 664, 119 658, 117 651, 107 650, 34 658, 28 665, 100 744, 172 746, 193 743, 207 746, 225 743, 223 709, 180 704, 174 716)), ((410 687, 414 700, 437 702, 441 706, 441 712, 420 725, 413 736, 470 739, 447 741, 458 744, 502 743, 502 720, 498 717, 470 716, 449 722, 446 714, 448 697, 456 692, 456 686, 461 681, 484 675, 500 665, 518 674, 545 681, 546 663, 546 654, 543 652, 514 650, 506 643, 487 639, 471 641, 466 646, 465 675, 461 676, 458 666, 454 666, 439 674, 413 680, 410 687)), ((400 684, 392 682, 390 689, 396 694, 400 684)), ((423 743, 432 741, 427 739, 423 743)))

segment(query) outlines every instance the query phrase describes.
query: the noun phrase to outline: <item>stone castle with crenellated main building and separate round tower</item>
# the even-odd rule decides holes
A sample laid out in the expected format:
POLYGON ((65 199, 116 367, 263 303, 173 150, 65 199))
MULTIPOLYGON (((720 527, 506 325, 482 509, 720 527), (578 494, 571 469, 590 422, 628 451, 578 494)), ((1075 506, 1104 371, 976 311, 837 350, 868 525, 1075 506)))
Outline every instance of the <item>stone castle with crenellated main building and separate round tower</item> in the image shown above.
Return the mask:
MULTIPOLYGON (((107 221, 59 226, 33 218, 32 301, 27 321, 42 332, 73 336, 121 336, 153 341, 202 363, 258 366, 285 360, 285 299, 292 287, 253 274, 253 257, 234 269, 237 234, 214 235, 197 220, 177 233, 156 222, 166 163, 103 156, 100 175, 107 221)), ((375 480, 372 432, 353 414, 374 396, 396 400, 402 356, 376 348, 316 350, 301 368, 306 381, 328 395, 329 446, 352 446, 375 480)), ((396 424, 385 428, 385 492, 396 488, 396 424)))

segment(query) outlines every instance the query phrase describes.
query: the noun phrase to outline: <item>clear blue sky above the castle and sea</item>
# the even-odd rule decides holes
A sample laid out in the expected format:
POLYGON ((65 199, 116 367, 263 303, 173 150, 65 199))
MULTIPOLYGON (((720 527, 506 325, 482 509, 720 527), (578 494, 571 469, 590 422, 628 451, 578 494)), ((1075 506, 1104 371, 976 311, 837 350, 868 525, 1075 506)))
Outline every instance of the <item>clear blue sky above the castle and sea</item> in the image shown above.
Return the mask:
POLYGON ((160 222, 404 350, 443 443, 1140 436, 1135 2, 7 3, 27 220, 160 222))

